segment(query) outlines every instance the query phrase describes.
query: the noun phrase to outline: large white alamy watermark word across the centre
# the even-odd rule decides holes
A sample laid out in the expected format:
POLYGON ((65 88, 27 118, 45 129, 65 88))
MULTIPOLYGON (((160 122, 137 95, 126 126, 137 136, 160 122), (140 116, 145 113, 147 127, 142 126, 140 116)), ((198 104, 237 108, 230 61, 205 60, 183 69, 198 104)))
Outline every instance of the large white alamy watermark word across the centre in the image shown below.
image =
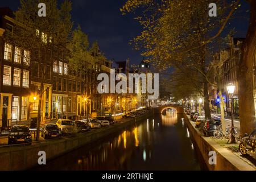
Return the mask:
POLYGON ((115 69, 110 69, 110 78, 107 73, 100 73, 97 77, 98 93, 142 93, 148 94, 148 100, 156 100, 159 96, 159 74, 154 73, 129 73, 128 78, 124 73, 115 76, 115 69), (115 85, 115 81, 117 84, 115 85), (127 85, 127 81, 129 82, 127 85), (109 85, 110 84, 110 85, 109 85), (154 88, 152 85, 154 84, 154 88))

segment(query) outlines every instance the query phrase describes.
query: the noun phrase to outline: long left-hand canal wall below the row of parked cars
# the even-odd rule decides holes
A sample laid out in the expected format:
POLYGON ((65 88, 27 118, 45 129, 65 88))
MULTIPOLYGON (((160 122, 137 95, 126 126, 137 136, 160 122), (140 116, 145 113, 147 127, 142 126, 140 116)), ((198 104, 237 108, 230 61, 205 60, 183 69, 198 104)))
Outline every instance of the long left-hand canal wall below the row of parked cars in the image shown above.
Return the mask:
POLYGON ((131 118, 127 121, 115 123, 114 126, 106 127, 102 130, 80 134, 75 137, 65 139, 45 140, 43 142, 33 143, 31 146, 6 146, 0 148, 0 171, 26 170, 38 165, 39 151, 46 152, 46 163, 48 160, 57 158, 72 150, 76 150, 86 144, 104 139, 111 134, 122 131, 135 123, 147 119, 153 114, 148 112, 137 118, 131 118))

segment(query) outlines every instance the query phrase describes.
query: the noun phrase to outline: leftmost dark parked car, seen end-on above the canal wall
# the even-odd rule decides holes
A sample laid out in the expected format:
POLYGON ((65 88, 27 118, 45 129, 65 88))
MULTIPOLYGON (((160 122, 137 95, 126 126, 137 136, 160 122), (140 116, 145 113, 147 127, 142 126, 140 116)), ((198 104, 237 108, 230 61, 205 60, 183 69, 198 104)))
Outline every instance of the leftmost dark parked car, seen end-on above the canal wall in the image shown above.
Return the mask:
POLYGON ((27 126, 15 125, 11 128, 8 136, 8 144, 32 143, 30 129, 27 126))

